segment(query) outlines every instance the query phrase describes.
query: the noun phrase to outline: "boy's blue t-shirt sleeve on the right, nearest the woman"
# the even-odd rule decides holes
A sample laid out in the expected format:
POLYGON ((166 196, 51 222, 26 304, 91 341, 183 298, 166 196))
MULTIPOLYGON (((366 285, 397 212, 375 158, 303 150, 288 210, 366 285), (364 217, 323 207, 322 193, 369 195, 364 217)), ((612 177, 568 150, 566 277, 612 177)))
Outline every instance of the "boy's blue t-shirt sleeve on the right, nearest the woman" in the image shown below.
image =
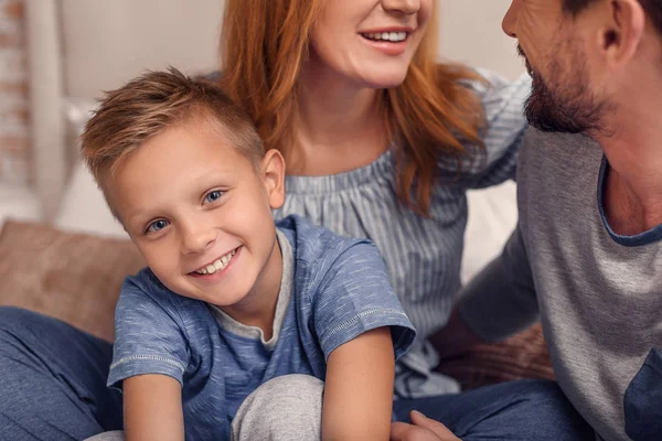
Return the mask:
POLYGON ((394 294, 377 248, 367 241, 351 245, 331 262, 312 295, 313 325, 324 358, 366 331, 391 327, 396 359, 416 332, 394 294))

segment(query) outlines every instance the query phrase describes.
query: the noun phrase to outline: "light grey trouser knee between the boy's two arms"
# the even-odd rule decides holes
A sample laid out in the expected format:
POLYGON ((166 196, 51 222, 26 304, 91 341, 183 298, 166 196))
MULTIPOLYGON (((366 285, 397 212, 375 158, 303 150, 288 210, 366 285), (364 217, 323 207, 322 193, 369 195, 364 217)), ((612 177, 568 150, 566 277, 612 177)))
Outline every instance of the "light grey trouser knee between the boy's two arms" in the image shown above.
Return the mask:
POLYGON ((321 439, 324 384, 308 375, 274 378, 250 394, 232 422, 233 441, 321 439))

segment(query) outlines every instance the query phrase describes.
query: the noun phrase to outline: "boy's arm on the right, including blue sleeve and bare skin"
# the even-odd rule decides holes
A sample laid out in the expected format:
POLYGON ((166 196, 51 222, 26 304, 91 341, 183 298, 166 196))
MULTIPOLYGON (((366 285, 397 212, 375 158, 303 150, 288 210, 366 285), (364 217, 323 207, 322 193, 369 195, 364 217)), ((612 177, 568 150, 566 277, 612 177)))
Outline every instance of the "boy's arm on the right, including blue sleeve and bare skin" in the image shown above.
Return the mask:
POLYGON ((377 248, 346 240, 327 252, 311 288, 312 324, 327 358, 322 440, 388 440, 395 361, 416 332, 377 248))

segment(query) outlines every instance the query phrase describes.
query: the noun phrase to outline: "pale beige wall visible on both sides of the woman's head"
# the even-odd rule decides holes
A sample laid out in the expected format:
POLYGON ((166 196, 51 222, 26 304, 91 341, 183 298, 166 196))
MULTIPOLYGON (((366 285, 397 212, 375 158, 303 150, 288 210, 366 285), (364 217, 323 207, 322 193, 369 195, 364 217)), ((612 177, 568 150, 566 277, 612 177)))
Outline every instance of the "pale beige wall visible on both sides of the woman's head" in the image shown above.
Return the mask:
MULTIPOLYGON (((523 72, 514 41, 501 31, 509 0, 436 1, 444 57, 511 78, 523 72)), ((214 68, 223 3, 60 0, 65 94, 96 97, 99 89, 167 64, 192 72, 214 68)))

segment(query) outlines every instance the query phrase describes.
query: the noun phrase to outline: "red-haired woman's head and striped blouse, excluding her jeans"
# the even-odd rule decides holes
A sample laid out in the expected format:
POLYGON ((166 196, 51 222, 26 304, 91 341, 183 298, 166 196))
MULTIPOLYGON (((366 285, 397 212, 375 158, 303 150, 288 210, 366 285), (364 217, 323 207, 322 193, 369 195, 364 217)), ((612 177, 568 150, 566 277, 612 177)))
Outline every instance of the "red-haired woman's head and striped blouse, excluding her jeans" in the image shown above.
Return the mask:
POLYGON ((372 239, 418 332, 396 395, 458 391, 426 338, 460 289, 466 191, 514 175, 527 78, 439 65, 431 0, 250 3, 226 3, 221 83, 286 158, 276 217, 372 239))

